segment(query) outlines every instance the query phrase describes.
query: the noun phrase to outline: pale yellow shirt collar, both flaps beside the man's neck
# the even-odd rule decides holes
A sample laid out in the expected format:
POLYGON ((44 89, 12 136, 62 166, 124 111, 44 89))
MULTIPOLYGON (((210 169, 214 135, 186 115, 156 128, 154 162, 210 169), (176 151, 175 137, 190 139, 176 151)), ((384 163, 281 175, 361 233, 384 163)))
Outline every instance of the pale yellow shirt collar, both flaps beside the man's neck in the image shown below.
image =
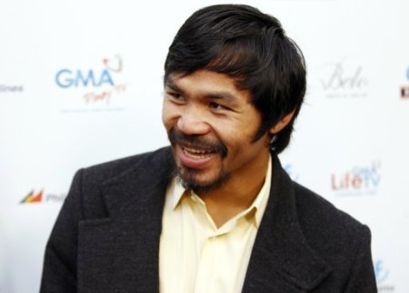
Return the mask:
MULTIPOLYGON (((245 210, 244 214, 250 213, 255 208, 254 220, 256 227, 260 226, 261 220, 264 215, 265 207, 267 207, 268 197, 270 196, 271 189, 271 174, 272 174, 272 157, 268 158, 268 167, 265 173, 264 185, 258 193, 257 197, 254 198, 253 203, 250 207, 245 210)), ((185 187, 174 177, 171 184, 169 185, 169 192, 172 195, 172 208, 175 209, 181 203, 182 197, 186 195, 185 187)), ((187 195, 186 195, 187 196, 187 195)))

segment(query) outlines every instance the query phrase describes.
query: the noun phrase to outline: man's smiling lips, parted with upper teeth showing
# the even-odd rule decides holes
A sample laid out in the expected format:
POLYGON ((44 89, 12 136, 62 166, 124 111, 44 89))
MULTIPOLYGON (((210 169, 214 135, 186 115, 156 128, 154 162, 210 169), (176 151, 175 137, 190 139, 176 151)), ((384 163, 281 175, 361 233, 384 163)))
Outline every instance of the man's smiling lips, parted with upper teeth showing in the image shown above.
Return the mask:
POLYGON ((212 149, 181 145, 177 145, 175 151, 176 156, 183 166, 195 169, 207 167, 218 155, 218 153, 212 149))

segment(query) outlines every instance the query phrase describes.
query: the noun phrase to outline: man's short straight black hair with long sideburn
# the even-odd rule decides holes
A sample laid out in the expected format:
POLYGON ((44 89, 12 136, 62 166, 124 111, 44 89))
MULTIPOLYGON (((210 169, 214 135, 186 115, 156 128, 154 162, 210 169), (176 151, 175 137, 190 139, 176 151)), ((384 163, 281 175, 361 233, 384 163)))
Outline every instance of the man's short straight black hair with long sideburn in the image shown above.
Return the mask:
POLYGON ((165 60, 165 81, 207 69, 234 77, 252 94, 262 125, 254 141, 285 115, 290 123, 272 139, 280 153, 288 146, 305 94, 305 62, 280 22, 249 5, 211 5, 196 11, 181 26, 165 60))

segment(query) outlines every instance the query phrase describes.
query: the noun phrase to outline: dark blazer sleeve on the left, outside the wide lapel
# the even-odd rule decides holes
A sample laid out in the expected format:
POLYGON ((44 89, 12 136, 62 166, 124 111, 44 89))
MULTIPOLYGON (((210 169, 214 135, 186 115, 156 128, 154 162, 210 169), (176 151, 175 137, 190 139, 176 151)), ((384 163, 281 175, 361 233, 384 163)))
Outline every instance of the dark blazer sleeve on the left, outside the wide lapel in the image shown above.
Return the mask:
POLYGON ((78 222, 81 219, 82 173, 73 179, 45 248, 40 293, 73 293, 76 288, 78 222))

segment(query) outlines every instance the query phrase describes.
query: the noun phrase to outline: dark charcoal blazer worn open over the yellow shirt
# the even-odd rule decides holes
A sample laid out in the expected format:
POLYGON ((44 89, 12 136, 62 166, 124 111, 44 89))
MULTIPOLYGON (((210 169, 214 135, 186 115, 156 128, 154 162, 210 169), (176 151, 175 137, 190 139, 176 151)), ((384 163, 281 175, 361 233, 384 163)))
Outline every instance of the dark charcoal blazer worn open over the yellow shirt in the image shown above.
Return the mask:
MULTIPOLYGON (((158 292, 173 162, 165 147, 78 171, 46 246, 41 292, 158 292)), ((369 229, 294 183, 273 155, 243 292, 376 292, 369 229)))

